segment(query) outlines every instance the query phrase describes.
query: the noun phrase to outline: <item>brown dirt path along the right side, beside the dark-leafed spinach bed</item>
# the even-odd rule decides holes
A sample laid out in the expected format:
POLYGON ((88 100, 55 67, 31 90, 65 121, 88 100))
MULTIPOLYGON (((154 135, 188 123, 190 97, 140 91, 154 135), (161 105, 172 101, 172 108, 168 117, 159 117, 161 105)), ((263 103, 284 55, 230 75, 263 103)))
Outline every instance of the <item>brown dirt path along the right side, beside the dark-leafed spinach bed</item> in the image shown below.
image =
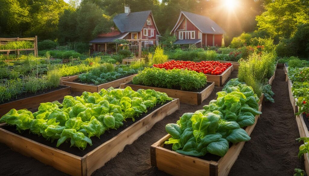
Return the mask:
POLYGON ((291 176, 294 168, 304 170, 303 160, 297 157, 299 133, 284 78, 283 69, 278 68, 272 85, 275 103, 263 105, 251 140, 245 143, 229 176, 291 176))

